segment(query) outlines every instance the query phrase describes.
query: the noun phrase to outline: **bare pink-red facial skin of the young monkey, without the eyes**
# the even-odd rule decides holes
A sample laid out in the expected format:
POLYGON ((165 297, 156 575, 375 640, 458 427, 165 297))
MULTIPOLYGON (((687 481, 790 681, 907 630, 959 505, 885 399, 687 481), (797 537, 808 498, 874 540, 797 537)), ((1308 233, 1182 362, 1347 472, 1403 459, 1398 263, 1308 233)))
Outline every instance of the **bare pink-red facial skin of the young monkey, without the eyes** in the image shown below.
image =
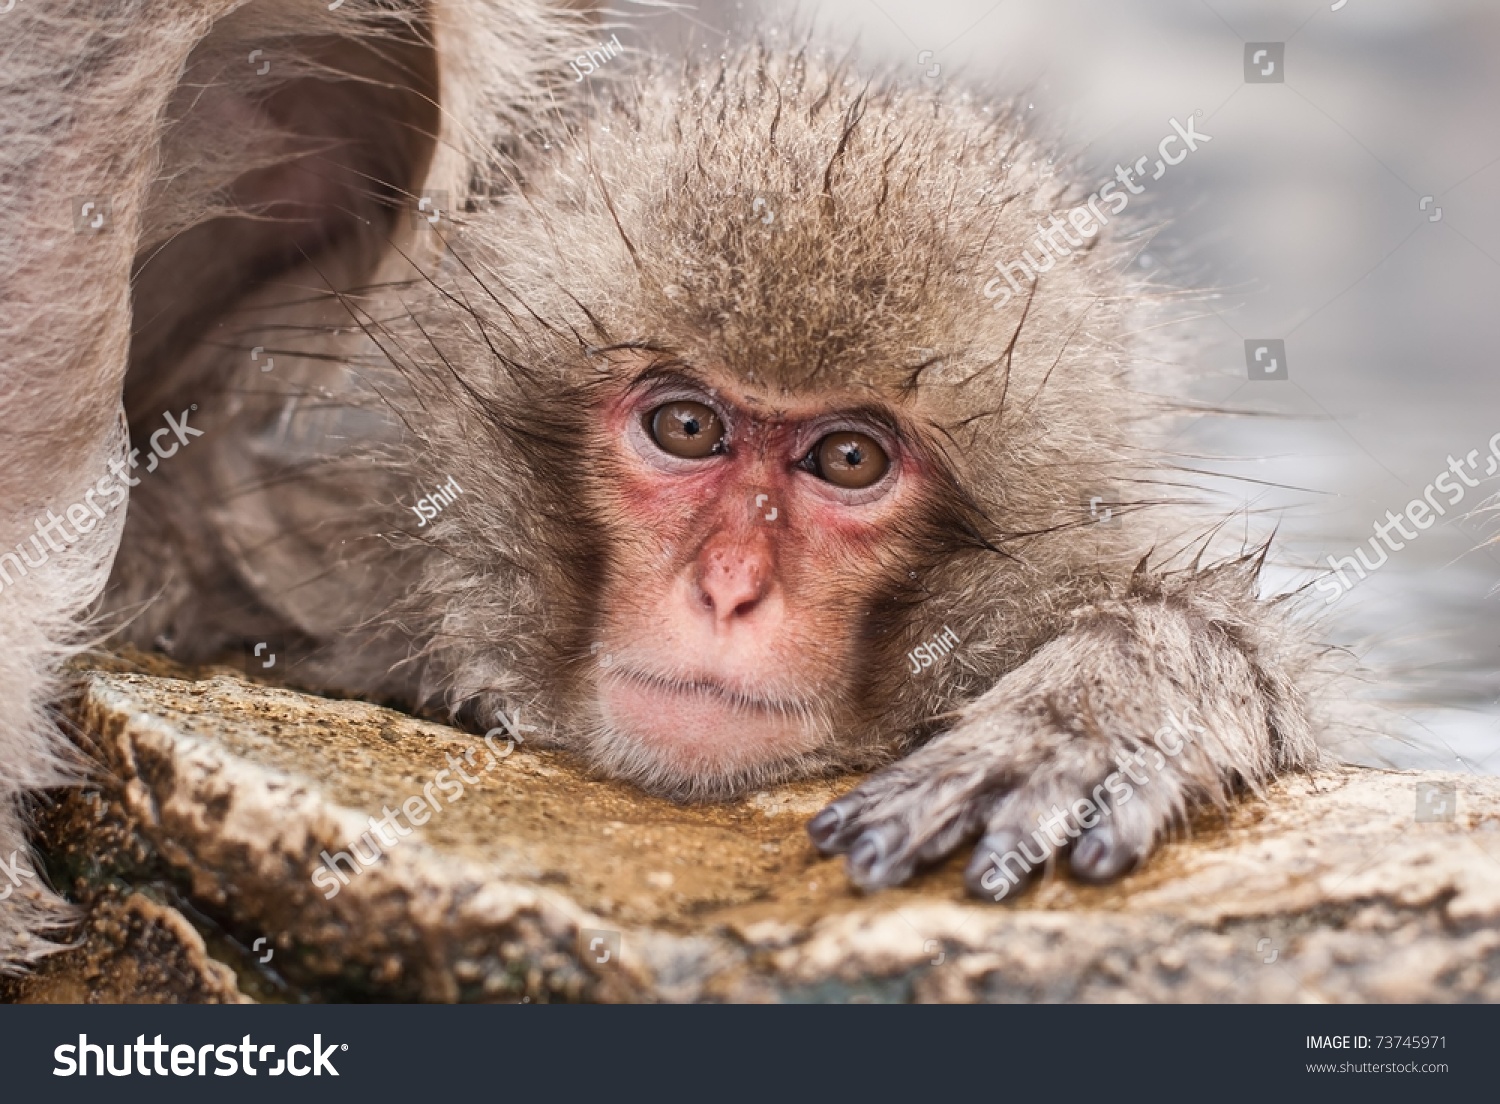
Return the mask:
POLYGON ((652 374, 606 406, 604 426, 606 512, 622 534, 598 642, 604 738, 678 780, 728 780, 834 738, 843 710, 828 704, 849 700, 861 615, 900 568, 891 526, 926 477, 891 414, 652 374), (654 441, 651 414, 684 400, 718 414, 722 454, 654 441), (886 472, 855 490, 807 470, 836 432, 873 438, 886 472))

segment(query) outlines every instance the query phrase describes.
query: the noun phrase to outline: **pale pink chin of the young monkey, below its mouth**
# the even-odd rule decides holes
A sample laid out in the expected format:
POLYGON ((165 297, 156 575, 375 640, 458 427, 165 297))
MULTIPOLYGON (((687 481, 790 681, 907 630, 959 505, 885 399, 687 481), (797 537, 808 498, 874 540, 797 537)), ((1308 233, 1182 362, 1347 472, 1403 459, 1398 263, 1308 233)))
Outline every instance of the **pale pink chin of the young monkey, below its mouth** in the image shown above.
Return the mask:
POLYGON ((688 800, 786 777, 816 754, 826 730, 800 704, 714 680, 616 672, 602 681, 598 705, 594 759, 615 777, 688 800))

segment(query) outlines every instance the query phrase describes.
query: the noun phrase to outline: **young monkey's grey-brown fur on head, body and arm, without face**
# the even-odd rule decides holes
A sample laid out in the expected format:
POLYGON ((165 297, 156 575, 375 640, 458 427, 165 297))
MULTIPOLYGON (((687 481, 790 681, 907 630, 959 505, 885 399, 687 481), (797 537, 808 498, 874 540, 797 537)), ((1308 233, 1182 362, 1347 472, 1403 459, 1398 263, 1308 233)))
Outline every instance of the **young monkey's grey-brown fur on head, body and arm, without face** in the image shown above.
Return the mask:
POLYGON ((586 92, 512 126, 502 162, 440 142, 402 188, 440 182, 456 225, 333 243, 134 369, 138 432, 195 402, 204 436, 132 495, 108 600, 126 636, 210 658, 282 634, 303 686, 480 728, 519 712, 682 798, 910 752, 819 834, 866 885, 1086 795, 1167 711, 1210 735, 1119 810, 1118 866, 1314 760, 1311 652, 1256 598, 1257 556, 1188 562, 1148 508, 1131 334, 1155 308, 1118 236, 1000 308, 982 294, 1083 198, 1014 112, 764 46, 586 92), (600 580, 650 540, 610 516, 592 411, 642 358, 868 396, 942 472, 878 568, 854 690, 807 704, 818 746, 770 766, 663 772, 592 704, 600 580), (448 480, 417 528, 406 504, 448 480), (1095 488, 1124 490, 1118 528, 1089 524, 1095 488), (940 627, 962 648, 906 676, 940 627))

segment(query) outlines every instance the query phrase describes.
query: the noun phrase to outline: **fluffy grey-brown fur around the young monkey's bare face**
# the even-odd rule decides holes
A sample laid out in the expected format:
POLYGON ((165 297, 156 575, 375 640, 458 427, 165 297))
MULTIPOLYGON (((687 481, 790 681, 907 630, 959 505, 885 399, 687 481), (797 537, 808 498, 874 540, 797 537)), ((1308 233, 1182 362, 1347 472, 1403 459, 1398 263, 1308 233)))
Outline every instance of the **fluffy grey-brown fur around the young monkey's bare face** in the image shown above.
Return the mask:
POLYGON ((884 759, 1149 550, 1082 506, 1144 478, 1116 412, 1138 408, 1126 328, 1149 304, 1106 236, 1030 294, 986 297, 996 261, 1082 198, 1014 111, 760 48, 627 87, 532 150, 522 188, 471 212, 410 315, 381 322, 420 440, 396 450, 416 465, 404 482, 466 492, 423 534, 396 618, 423 626, 423 693, 484 723, 524 704, 684 796, 884 759), (732 380, 770 406, 867 405, 934 476, 880 578, 848 596, 840 699, 808 702, 816 741, 771 766, 676 777, 594 704, 597 596, 674 555, 632 531, 598 447, 597 411, 651 372, 732 380), (904 678, 903 656, 945 628, 962 656, 904 678))

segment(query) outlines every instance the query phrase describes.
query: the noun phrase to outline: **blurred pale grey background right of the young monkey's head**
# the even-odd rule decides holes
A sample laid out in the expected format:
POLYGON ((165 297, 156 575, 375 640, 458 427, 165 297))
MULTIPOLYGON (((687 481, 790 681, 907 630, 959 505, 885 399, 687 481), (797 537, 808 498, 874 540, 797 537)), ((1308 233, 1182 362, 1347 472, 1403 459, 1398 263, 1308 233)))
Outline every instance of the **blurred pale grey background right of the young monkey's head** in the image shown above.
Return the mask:
MULTIPOLYGON (((1210 136, 1130 214, 1136 264, 1210 290, 1190 324, 1204 417, 1176 446, 1280 526, 1276 586, 1353 554, 1500 432, 1500 3, 1496 0, 705 0, 642 45, 714 48, 810 22, 912 80, 1026 93, 1092 190, 1172 134, 1210 136), (933 66, 940 69, 936 76, 933 66), (1246 342, 1284 342, 1252 380, 1246 342), (1278 372, 1276 375, 1281 375, 1278 372), (1254 482, 1251 482, 1254 480, 1254 482), (1266 486, 1266 484, 1281 484, 1266 486)), ((1330 608, 1396 717, 1341 750, 1500 772, 1500 530, 1490 478, 1330 608)), ((1446 501, 1446 495, 1440 495, 1446 501)), ((1396 537, 1400 540, 1400 537, 1396 537)), ((1371 555, 1366 550, 1366 555, 1371 555)), ((1353 576, 1350 576, 1353 580, 1353 576)), ((1316 603, 1323 604, 1322 596, 1316 603)))

